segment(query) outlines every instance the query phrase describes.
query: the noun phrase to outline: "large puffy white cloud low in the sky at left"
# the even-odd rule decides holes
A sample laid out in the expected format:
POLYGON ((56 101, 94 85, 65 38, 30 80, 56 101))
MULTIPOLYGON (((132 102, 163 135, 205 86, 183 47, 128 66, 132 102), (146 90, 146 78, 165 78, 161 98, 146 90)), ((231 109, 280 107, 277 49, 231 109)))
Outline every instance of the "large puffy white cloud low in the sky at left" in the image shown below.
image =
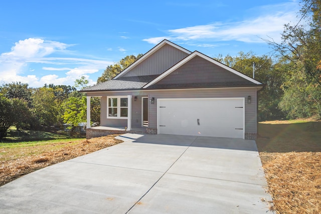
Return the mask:
MULTIPOLYGON (((1 83, 20 81, 28 83, 30 87, 41 87, 44 84, 51 83, 55 85, 74 85, 74 81, 81 76, 89 79, 88 74, 96 73, 99 69, 105 69, 113 63, 95 59, 48 57, 53 53, 68 52, 66 50, 68 47, 70 45, 38 38, 29 38, 15 43, 11 52, 0 55, 1 83), (31 64, 33 69, 28 68, 31 64), (53 65, 41 68, 45 71, 55 71, 55 74, 39 75, 39 69, 36 69, 37 64, 53 65), (62 67, 64 65, 65 67, 62 67), (35 75, 25 74, 25 72, 31 71, 35 75), (59 73, 60 71, 67 72, 59 73)), ((92 85, 96 82, 89 79, 89 83, 92 85)))

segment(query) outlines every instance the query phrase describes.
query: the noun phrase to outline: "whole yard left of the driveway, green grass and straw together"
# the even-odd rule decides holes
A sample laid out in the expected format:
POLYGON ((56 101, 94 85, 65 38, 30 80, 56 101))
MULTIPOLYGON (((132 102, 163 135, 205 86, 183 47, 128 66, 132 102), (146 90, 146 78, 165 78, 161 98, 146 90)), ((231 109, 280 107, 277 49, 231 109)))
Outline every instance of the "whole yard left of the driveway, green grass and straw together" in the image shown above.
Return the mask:
MULTIPOLYGON (((63 139, 68 136, 35 133, 56 138, 55 140, 2 142, 0 143, 0 186, 35 170, 69 160, 81 155, 122 142, 115 136, 86 140, 63 139)), ((46 137, 45 137, 46 138, 46 137)), ((29 136, 28 140, 32 137, 29 136)), ((21 140, 21 139, 20 139, 21 140)))

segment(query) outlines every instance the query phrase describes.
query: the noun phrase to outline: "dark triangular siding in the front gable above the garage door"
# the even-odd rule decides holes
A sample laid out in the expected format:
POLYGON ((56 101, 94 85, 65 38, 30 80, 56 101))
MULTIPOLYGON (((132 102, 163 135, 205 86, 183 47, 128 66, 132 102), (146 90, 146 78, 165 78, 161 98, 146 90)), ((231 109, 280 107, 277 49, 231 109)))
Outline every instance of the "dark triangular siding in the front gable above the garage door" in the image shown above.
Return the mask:
POLYGON ((202 57, 196 56, 154 85, 213 82, 250 83, 248 80, 233 74, 232 72, 226 71, 222 67, 215 65, 202 57))

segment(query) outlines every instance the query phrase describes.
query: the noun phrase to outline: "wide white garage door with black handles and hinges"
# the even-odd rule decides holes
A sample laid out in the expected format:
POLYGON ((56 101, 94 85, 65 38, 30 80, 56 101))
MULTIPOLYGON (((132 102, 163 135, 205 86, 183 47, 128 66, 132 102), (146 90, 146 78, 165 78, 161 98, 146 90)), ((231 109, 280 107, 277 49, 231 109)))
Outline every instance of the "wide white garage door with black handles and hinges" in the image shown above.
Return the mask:
POLYGON ((244 139, 244 98, 157 99, 159 134, 244 139))

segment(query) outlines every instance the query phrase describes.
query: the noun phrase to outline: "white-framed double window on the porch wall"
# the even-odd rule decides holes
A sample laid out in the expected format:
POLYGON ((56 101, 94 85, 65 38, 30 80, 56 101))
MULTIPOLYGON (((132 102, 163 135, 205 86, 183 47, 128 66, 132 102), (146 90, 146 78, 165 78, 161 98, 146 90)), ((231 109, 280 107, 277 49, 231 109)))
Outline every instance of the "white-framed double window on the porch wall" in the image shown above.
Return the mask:
POLYGON ((126 119, 128 115, 128 98, 108 97, 107 117, 126 119))

